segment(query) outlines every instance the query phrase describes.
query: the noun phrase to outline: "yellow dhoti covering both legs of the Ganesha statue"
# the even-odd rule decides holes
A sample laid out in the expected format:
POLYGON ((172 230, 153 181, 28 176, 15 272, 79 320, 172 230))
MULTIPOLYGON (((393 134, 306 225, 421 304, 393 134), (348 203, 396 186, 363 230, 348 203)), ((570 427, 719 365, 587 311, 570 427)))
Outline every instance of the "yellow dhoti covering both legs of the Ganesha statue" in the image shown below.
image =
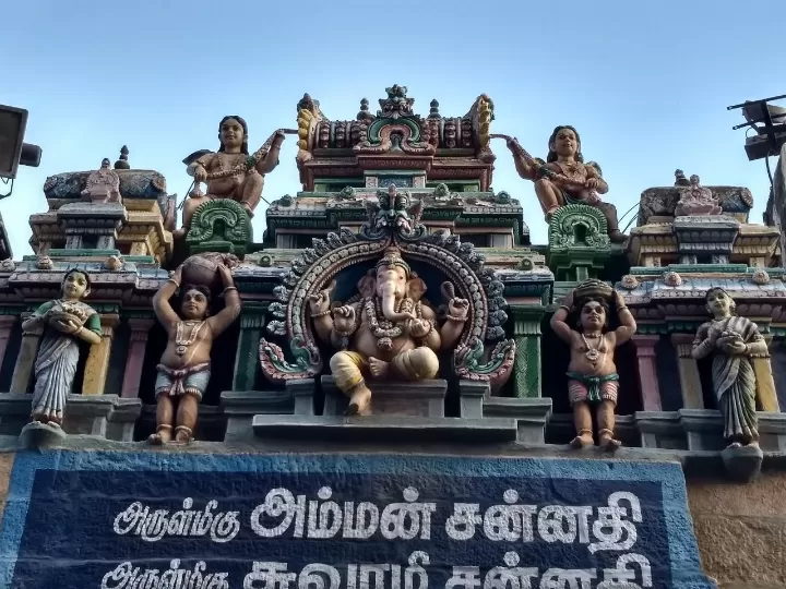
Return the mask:
MULTIPOLYGON (((369 374, 369 362, 362 353, 343 350, 331 358, 331 371, 336 386, 347 392, 369 374)), ((433 378, 439 372, 439 359, 430 348, 416 348, 398 353, 390 362, 390 377, 400 381, 433 378)))

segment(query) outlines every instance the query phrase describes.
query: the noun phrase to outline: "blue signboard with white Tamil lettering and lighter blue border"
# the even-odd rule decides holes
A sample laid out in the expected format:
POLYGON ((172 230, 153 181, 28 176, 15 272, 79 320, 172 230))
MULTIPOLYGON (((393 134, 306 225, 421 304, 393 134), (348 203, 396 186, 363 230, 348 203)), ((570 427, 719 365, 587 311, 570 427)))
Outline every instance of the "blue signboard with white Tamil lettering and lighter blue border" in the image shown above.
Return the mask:
POLYGON ((675 464, 20 453, 0 587, 703 589, 675 464))

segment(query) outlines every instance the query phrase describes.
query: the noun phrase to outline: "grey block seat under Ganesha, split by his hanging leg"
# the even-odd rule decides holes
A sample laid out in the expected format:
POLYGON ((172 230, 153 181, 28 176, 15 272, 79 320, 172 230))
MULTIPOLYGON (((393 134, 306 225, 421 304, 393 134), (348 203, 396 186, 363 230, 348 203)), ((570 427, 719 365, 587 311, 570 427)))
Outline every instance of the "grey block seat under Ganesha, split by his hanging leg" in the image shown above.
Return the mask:
MULTIPOLYGON (((333 376, 322 376, 324 416, 343 416, 347 397, 338 390, 333 376)), ((371 411, 377 416, 444 417, 444 398, 448 382, 442 380, 366 383, 371 389, 371 411)))

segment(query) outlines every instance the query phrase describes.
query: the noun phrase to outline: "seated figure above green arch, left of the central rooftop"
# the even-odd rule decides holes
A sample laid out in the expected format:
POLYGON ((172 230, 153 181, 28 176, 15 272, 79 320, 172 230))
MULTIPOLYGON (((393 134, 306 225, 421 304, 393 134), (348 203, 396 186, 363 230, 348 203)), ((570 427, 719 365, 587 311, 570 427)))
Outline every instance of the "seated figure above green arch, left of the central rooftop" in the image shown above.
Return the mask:
POLYGON ((214 199, 238 201, 249 217, 253 216, 262 199, 264 175, 272 172, 278 165, 281 146, 286 135, 276 131, 254 156, 262 155, 248 170, 243 165, 249 159, 248 124, 237 115, 224 117, 218 123, 217 153, 207 153, 191 163, 187 169, 196 182, 195 190, 183 204, 182 229, 175 237, 183 237, 191 227, 191 219, 199 206, 214 199), (229 175, 229 170, 236 169, 229 175), (217 178, 216 178, 217 176, 217 178), (199 182, 207 182, 207 194, 199 191, 199 182))

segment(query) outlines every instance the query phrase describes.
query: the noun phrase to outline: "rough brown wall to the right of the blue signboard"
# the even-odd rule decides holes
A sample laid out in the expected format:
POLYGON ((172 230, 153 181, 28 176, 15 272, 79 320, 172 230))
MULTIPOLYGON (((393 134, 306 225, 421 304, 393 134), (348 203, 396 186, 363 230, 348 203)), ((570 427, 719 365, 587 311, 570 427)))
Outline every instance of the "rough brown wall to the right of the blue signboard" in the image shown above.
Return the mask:
POLYGON ((704 572, 720 589, 786 587, 786 473, 752 484, 688 481, 704 572))

